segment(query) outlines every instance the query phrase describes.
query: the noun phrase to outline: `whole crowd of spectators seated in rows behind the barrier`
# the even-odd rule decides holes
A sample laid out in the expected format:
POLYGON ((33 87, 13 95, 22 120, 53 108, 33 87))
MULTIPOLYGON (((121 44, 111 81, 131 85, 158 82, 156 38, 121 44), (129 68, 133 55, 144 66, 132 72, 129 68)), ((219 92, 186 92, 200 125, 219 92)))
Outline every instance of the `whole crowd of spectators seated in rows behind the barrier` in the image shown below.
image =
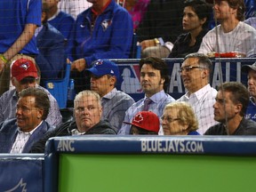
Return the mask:
POLYGON ((256 62, 241 69, 248 88, 211 85, 211 58, 256 58, 250 3, 87 0, 81 10, 68 0, 1 0, 0 152, 44 153, 49 138, 67 135, 256 135, 256 62), (166 58, 183 59, 180 98, 168 92, 166 58), (115 59, 138 59, 142 99, 117 89, 115 59), (65 122, 44 81, 63 78, 67 63, 77 94, 65 122))

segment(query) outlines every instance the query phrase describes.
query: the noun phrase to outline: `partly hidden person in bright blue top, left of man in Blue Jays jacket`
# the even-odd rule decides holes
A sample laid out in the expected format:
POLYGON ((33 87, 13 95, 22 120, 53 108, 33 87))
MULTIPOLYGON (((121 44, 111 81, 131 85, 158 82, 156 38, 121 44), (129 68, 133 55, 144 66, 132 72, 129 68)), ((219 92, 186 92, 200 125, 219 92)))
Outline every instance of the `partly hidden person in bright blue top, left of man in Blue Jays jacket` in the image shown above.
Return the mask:
POLYGON ((68 13, 61 12, 58 9, 60 0, 43 0, 43 2, 48 6, 48 12, 46 13, 48 22, 69 40, 75 19, 68 13))

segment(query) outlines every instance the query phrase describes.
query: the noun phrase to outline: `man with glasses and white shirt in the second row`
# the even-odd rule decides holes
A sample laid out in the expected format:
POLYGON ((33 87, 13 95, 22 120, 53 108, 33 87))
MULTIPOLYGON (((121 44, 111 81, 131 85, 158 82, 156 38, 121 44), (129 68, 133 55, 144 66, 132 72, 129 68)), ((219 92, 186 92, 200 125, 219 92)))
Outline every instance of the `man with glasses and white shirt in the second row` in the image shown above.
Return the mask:
POLYGON ((179 101, 188 102, 196 114, 199 126, 197 132, 204 132, 213 124, 213 104, 217 91, 211 87, 212 61, 204 54, 188 54, 180 68, 180 76, 188 90, 179 101))

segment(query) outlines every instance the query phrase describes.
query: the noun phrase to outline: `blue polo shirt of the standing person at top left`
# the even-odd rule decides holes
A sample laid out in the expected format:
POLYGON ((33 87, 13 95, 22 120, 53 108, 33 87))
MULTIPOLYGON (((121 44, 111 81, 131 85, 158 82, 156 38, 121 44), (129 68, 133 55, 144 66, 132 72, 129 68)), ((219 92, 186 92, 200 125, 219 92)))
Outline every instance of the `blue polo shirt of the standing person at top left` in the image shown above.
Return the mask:
MULTIPOLYGON (((0 1, 0 53, 6 52, 19 38, 28 23, 41 25, 42 1, 1 0, 0 1)), ((36 38, 20 53, 37 54, 36 38)))

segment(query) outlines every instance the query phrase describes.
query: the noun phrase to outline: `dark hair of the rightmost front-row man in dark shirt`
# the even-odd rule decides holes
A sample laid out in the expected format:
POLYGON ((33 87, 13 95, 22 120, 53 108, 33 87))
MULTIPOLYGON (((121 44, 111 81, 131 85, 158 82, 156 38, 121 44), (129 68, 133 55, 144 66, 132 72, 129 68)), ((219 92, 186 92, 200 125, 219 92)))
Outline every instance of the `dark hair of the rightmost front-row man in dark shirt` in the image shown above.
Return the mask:
POLYGON ((220 84, 218 90, 223 92, 231 92, 230 100, 232 100, 232 102, 235 104, 241 103, 243 108, 240 112, 240 116, 245 115, 250 100, 250 94, 244 84, 239 82, 225 82, 220 84))

